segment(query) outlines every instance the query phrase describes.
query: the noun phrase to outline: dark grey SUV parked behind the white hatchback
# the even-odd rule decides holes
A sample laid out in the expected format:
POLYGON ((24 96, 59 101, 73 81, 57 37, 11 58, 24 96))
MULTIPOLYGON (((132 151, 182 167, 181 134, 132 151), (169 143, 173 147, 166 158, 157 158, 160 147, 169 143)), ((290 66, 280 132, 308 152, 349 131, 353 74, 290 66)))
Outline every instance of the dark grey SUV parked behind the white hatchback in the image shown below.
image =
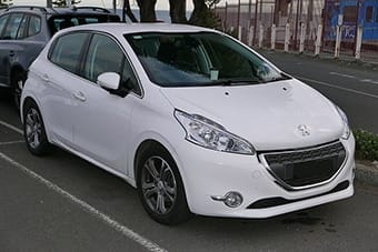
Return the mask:
POLYGON ((11 88, 19 107, 31 62, 59 30, 98 22, 119 22, 107 9, 10 7, 0 12, 0 87, 11 88))

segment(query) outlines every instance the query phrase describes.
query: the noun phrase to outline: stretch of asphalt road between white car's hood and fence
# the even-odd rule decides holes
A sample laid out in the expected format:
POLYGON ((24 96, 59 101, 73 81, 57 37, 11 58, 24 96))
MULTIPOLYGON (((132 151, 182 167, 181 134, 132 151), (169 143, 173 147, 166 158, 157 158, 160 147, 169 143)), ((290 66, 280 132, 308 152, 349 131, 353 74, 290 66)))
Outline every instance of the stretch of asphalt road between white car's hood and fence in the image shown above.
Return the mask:
POLYGON ((271 51, 261 53, 338 104, 348 114, 354 129, 378 133, 377 69, 308 56, 271 51))

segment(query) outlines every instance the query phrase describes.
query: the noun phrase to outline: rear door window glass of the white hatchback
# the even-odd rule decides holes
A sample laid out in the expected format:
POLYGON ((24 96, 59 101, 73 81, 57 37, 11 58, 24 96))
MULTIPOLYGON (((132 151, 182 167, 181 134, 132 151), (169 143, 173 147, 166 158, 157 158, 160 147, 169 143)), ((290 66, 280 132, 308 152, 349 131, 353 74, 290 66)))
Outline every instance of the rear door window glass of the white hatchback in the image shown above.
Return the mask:
POLYGON ((71 33, 60 37, 50 51, 49 59, 67 71, 76 72, 87 38, 88 33, 71 33))

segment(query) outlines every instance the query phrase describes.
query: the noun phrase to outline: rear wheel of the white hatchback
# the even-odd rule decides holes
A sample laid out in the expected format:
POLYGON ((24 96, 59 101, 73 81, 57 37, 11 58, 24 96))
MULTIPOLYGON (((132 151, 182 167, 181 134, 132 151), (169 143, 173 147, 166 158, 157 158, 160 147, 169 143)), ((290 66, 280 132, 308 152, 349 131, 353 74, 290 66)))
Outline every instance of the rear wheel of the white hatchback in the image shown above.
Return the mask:
POLYGON ((33 155, 44 155, 51 148, 46 135, 41 112, 33 101, 27 101, 24 105, 23 138, 33 155))

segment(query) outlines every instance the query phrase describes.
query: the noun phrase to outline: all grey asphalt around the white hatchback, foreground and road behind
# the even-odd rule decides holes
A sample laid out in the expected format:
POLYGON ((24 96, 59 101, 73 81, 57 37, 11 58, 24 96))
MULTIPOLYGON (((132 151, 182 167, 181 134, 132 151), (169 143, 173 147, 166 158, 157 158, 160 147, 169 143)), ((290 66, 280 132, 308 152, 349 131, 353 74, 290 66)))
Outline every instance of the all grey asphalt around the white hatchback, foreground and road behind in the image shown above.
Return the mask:
MULTIPOLYGON (((287 54, 268 57, 291 74, 305 75, 348 112, 354 125, 378 129, 376 73, 287 54)), ((61 150, 43 159, 30 155, 6 98, 0 94, 1 251, 378 250, 378 188, 361 184, 351 199, 268 220, 196 216, 179 226, 160 225, 122 180, 61 150)))

